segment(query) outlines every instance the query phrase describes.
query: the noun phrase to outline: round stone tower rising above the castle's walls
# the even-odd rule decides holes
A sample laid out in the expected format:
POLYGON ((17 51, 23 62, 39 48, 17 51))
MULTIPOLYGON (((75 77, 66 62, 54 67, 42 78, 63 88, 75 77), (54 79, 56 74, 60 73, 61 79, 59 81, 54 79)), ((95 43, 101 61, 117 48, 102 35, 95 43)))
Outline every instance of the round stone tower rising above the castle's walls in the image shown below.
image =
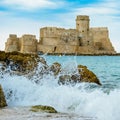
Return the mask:
POLYGON ((78 15, 76 18, 76 29, 80 33, 86 34, 89 31, 89 16, 78 15))

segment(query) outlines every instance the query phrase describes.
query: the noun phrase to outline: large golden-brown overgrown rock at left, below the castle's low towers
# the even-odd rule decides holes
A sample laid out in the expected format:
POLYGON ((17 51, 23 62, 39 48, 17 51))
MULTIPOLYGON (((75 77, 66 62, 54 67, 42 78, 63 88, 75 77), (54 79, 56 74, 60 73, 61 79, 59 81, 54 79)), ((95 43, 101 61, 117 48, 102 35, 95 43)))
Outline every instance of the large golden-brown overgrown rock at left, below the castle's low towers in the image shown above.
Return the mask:
POLYGON ((38 56, 36 54, 0 51, 0 61, 4 61, 13 71, 25 72, 33 70, 37 66, 38 56))

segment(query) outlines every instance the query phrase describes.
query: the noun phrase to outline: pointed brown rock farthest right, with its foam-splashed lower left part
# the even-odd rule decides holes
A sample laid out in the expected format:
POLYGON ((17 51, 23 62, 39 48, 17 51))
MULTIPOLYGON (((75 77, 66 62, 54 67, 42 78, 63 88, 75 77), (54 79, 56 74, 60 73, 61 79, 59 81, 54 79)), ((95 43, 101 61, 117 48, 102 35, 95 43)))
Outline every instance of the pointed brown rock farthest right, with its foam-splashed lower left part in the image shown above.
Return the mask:
POLYGON ((78 65, 78 74, 71 75, 61 75, 59 77, 59 84, 69 84, 69 83, 79 83, 79 82, 89 82, 96 83, 101 85, 97 76, 90 70, 87 69, 86 66, 78 65))

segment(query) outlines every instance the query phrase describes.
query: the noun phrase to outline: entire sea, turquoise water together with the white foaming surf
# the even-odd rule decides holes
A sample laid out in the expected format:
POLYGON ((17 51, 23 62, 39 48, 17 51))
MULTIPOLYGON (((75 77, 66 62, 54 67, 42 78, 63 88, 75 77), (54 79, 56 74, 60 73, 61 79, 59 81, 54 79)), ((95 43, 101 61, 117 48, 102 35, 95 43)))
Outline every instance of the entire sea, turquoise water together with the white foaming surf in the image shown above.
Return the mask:
MULTIPOLYGON (((43 73, 42 78, 38 74, 33 74, 32 80, 29 80, 25 76, 5 73, 1 75, 0 84, 8 107, 49 105, 59 113, 84 116, 83 119, 78 117, 75 120, 120 120, 120 56, 41 55, 41 57, 49 66, 54 62, 60 63, 64 69, 63 74, 72 74, 79 64, 87 66, 96 74, 102 85, 95 83, 60 85, 58 77, 52 74, 43 73), (39 82, 36 83, 36 80, 39 82)), ((39 64, 37 73, 41 67, 39 64)))

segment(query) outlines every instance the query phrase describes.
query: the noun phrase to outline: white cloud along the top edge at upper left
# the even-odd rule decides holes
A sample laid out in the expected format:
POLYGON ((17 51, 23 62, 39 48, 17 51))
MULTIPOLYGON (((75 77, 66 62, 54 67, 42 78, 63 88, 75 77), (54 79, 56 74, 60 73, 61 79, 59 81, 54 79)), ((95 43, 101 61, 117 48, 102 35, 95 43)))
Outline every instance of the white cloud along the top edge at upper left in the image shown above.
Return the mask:
POLYGON ((37 8, 56 8, 63 5, 63 2, 53 2, 52 0, 2 0, 3 5, 12 5, 17 9, 37 9, 37 8))

